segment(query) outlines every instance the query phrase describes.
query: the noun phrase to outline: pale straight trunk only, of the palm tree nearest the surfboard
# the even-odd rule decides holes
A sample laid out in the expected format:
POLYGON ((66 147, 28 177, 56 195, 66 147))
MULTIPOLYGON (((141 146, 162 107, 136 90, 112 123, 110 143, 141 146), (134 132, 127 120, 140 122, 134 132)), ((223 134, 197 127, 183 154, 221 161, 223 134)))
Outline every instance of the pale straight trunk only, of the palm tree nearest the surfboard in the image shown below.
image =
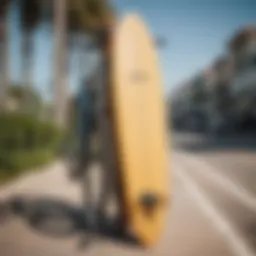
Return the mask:
POLYGON ((67 2, 54 0, 54 118, 64 126, 67 109, 67 2))

